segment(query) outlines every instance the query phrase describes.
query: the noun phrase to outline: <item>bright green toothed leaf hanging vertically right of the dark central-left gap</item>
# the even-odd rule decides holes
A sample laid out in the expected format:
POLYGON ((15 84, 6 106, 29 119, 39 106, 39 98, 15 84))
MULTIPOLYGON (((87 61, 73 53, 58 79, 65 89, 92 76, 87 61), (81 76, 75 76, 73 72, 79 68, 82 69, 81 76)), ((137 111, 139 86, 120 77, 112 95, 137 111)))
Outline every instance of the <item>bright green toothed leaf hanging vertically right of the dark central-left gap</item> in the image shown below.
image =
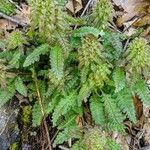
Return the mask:
POLYGON ((58 46, 52 47, 50 52, 51 70, 54 75, 61 79, 64 75, 64 58, 62 49, 58 46))

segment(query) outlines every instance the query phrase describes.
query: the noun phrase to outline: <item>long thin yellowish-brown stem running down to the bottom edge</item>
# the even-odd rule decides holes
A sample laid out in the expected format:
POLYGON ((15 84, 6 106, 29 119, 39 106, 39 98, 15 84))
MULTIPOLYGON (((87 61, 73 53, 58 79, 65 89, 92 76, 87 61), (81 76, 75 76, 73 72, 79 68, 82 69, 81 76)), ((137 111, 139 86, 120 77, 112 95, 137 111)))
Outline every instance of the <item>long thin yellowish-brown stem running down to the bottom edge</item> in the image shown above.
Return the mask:
POLYGON ((34 69, 33 69, 33 79, 34 79, 34 82, 35 82, 35 88, 36 88, 36 92, 37 92, 37 96, 38 96, 38 102, 39 102, 39 105, 40 105, 40 110, 41 110, 41 113, 43 115, 43 123, 44 123, 45 131, 46 131, 49 150, 52 150, 50 135, 49 135, 49 131, 48 131, 48 126, 47 126, 47 123, 46 123, 46 120, 45 120, 44 107, 43 107, 43 104, 42 104, 42 98, 41 98, 41 94, 40 94, 40 90, 39 90, 39 86, 38 86, 38 79, 37 79, 37 76, 36 76, 36 73, 35 73, 34 69))

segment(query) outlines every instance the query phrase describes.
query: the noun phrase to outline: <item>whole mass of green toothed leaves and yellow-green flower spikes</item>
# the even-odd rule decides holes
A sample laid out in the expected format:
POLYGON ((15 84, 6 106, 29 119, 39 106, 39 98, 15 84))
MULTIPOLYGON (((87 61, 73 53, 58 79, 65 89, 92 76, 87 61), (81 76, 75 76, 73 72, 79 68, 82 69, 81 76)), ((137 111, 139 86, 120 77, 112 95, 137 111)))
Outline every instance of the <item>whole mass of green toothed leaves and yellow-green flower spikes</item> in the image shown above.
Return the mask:
POLYGON ((72 138, 72 150, 119 150, 108 133, 125 133, 125 119, 136 123, 133 97, 150 106, 150 45, 133 36, 123 47, 129 37, 108 28, 107 0, 83 18, 69 16, 57 0, 29 4, 28 31, 13 31, 0 45, 0 105, 16 92, 28 97, 32 125, 44 113, 59 130, 53 147, 72 138))

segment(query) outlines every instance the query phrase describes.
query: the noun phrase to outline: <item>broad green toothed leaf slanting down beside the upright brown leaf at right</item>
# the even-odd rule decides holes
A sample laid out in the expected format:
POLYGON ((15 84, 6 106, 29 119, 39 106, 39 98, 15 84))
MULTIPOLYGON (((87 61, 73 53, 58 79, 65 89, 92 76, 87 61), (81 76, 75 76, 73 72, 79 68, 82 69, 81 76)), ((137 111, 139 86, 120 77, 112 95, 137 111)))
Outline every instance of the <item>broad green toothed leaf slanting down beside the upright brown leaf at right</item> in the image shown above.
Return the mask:
POLYGON ((131 90, 127 87, 122 89, 117 93, 117 105, 118 108, 123 112, 126 113, 127 117, 132 122, 136 122, 136 113, 135 107, 133 104, 132 93, 131 90))

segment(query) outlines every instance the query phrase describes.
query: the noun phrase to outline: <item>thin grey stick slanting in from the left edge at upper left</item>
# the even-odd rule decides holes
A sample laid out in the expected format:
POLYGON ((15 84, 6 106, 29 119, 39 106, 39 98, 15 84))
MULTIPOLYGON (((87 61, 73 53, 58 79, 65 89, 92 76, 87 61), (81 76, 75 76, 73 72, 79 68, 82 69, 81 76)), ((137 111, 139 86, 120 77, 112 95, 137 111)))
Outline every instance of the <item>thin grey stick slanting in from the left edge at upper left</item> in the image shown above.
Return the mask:
POLYGON ((14 23, 16 23, 18 25, 21 25, 23 27, 28 25, 27 22, 25 22, 25 21, 23 21, 21 19, 17 19, 15 17, 10 17, 10 16, 8 16, 8 15, 2 13, 2 12, 0 12, 0 17, 3 17, 4 19, 7 19, 7 20, 9 20, 11 22, 14 22, 14 23))

